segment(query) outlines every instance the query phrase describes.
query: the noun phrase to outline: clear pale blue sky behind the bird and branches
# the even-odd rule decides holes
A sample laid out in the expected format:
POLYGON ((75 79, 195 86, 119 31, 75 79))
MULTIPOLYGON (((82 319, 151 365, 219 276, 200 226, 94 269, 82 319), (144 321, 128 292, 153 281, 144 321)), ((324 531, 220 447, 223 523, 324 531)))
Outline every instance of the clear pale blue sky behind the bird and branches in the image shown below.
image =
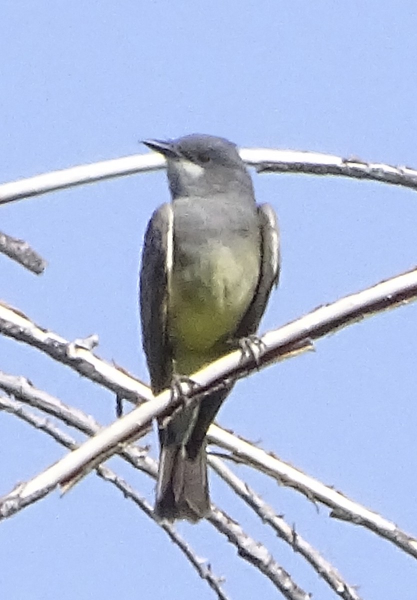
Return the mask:
MULTIPOLYGON (((24 2, 0 8, 0 180, 145 151, 139 140, 200 132, 241 146, 305 149, 417 167, 417 15, 392 2, 24 2)), ((283 265, 261 331, 417 263, 417 196, 375 182, 259 175, 281 224, 283 265)), ((163 172, 0 207, 0 229, 48 262, 41 277, 0 256, 1 297, 147 380, 137 272, 163 172)), ((219 422, 417 535, 417 306, 319 341, 315 353, 238 383, 219 422)), ((0 338, 0 368, 103 424, 109 392, 0 338)), ((0 494, 64 454, 0 413, 0 494)), ((149 437, 152 452, 157 448, 149 437)), ((152 501, 154 484, 113 466, 152 501)), ((415 563, 291 490, 236 469, 333 562, 363 598, 415 599, 415 563)), ((314 598, 334 598, 214 474, 224 505, 314 598)), ((7 598, 213 598, 166 535, 90 475, 1 524, 7 598)), ((276 591, 202 523, 179 530, 232 598, 276 591)))

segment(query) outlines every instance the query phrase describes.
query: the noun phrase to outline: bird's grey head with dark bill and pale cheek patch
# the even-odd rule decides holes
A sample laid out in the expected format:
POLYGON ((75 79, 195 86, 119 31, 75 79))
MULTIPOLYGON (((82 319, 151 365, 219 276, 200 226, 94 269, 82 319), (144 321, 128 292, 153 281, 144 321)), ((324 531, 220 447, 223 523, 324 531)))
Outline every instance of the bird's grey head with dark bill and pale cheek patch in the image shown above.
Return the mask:
POLYGON ((232 191, 253 195, 252 180, 236 145, 223 137, 194 133, 169 142, 143 143, 166 158, 174 199, 232 191))

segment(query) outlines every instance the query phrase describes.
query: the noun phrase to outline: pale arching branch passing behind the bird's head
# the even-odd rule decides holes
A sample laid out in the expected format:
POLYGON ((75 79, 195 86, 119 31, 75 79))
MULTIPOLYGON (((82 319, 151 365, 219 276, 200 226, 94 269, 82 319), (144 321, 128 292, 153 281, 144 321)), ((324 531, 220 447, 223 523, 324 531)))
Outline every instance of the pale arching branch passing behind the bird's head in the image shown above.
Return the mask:
MULTIPOLYGON (((410 167, 369 163, 355 157, 342 158, 320 152, 272 148, 242 148, 240 154, 247 164, 256 167, 260 173, 339 175, 355 179, 373 179, 386 184, 417 189, 417 171, 410 167)), ((164 158, 156 152, 150 152, 52 171, 0 185, 0 204, 102 179, 162 169, 164 166, 164 158)))

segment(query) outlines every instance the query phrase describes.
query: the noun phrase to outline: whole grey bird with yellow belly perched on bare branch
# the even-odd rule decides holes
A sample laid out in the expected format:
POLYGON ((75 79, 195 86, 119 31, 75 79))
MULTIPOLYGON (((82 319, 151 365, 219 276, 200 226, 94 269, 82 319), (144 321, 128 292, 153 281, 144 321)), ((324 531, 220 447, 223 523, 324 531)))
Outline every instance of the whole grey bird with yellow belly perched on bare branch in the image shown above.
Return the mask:
MULTIPOLYGON (((234 143, 206 134, 143 143, 166 158, 171 196, 148 223, 139 281, 156 395, 256 334, 278 284, 280 235, 234 143)), ((206 432, 232 387, 158 422, 157 517, 196 523, 209 514, 206 432)))

